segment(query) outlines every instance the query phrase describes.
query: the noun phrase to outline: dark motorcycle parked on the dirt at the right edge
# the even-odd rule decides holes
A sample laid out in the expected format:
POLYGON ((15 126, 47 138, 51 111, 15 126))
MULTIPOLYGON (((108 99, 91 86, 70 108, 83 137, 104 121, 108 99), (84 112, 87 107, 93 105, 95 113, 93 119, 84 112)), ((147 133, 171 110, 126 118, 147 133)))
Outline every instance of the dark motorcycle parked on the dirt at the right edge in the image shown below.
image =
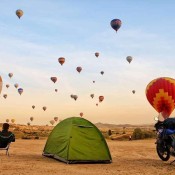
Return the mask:
POLYGON ((168 161, 170 156, 175 157, 175 118, 168 118, 164 121, 155 120, 157 120, 154 126, 157 133, 156 151, 161 160, 168 161))

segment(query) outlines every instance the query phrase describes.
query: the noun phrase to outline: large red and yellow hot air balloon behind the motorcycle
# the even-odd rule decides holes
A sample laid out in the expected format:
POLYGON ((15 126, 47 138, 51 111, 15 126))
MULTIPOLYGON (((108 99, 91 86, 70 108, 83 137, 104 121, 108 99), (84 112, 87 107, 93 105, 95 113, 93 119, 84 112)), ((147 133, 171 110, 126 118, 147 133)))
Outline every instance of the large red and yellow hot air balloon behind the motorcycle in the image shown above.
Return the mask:
POLYGON ((168 118, 175 108, 175 79, 160 77, 146 87, 146 97, 153 108, 168 118))

